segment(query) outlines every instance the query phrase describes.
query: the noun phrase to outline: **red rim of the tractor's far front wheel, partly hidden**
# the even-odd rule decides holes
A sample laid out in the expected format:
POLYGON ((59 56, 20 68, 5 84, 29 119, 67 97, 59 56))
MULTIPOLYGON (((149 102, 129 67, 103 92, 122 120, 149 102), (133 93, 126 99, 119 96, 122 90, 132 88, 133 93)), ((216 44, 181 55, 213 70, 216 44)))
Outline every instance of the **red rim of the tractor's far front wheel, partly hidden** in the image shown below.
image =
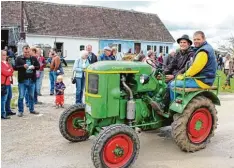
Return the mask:
POLYGON ((75 137, 84 136, 87 133, 86 130, 82 128, 77 128, 73 124, 73 121, 77 118, 81 120, 85 120, 85 112, 84 111, 74 112, 68 117, 67 124, 66 124, 67 131, 71 136, 75 136, 75 137))

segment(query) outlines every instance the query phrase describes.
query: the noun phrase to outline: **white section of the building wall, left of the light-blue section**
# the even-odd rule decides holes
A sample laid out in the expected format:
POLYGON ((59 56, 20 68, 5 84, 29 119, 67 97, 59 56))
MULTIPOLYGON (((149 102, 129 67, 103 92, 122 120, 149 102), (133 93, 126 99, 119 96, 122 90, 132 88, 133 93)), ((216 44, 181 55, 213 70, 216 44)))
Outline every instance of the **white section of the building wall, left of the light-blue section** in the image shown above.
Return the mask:
POLYGON ((66 60, 75 60, 80 57, 80 49, 85 48, 87 45, 92 45, 93 52, 98 54, 99 41, 97 39, 81 39, 69 37, 51 37, 51 36, 38 36, 28 34, 26 42, 31 46, 35 44, 48 44, 54 47, 54 43, 63 43, 63 53, 67 56, 66 60))

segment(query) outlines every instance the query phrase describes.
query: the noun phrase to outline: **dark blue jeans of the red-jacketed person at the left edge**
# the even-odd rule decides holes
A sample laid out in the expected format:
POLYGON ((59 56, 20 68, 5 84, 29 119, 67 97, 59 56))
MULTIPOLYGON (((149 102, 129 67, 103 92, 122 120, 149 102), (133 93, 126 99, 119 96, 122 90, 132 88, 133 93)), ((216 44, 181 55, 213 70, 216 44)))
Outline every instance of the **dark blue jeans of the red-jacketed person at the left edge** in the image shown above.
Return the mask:
POLYGON ((6 86, 7 94, 1 96, 1 116, 6 117, 7 113, 11 112, 11 98, 12 98, 12 89, 11 85, 6 86))

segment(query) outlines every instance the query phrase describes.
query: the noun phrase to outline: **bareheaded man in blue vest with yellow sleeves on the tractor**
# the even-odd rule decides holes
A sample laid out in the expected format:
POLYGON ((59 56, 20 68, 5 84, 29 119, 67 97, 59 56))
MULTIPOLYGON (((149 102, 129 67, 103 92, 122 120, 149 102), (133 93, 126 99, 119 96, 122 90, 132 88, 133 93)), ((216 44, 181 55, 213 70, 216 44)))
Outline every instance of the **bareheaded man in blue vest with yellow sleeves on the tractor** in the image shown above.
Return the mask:
POLYGON ((207 43, 205 34, 202 31, 194 33, 193 42, 195 46, 193 63, 184 74, 177 76, 176 81, 171 82, 171 100, 175 99, 174 87, 185 86, 186 88, 208 89, 215 81, 217 62, 213 47, 207 43))

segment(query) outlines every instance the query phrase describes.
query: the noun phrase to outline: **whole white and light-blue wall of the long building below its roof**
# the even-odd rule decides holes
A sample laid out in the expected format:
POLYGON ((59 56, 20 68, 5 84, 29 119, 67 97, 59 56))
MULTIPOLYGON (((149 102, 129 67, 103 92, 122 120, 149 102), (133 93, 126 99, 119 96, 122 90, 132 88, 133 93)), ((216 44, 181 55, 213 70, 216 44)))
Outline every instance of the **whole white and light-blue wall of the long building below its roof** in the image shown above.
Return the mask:
MULTIPOLYGON (((124 53, 127 53, 129 49, 134 52, 135 41, 130 40, 98 40, 98 39, 84 39, 84 38, 72 38, 72 37, 52 37, 52 36, 40 36, 27 34, 26 42, 29 45, 44 44, 54 47, 54 43, 63 43, 63 53, 67 56, 66 60, 75 60, 80 56, 80 50, 85 48, 88 44, 93 46, 93 52, 96 55, 100 55, 105 46, 117 46, 120 47, 118 57, 122 57, 124 53)), ((169 51, 173 48, 173 43, 163 42, 147 42, 147 41, 136 41, 141 43, 141 50, 143 53, 147 53, 147 46, 151 46, 151 49, 156 49, 157 55, 160 53, 160 46, 163 47, 163 52, 169 51), (155 48, 156 47, 156 48, 155 48), (168 47, 168 49, 167 49, 168 47)), ((166 53, 167 54, 167 53, 166 53)))

